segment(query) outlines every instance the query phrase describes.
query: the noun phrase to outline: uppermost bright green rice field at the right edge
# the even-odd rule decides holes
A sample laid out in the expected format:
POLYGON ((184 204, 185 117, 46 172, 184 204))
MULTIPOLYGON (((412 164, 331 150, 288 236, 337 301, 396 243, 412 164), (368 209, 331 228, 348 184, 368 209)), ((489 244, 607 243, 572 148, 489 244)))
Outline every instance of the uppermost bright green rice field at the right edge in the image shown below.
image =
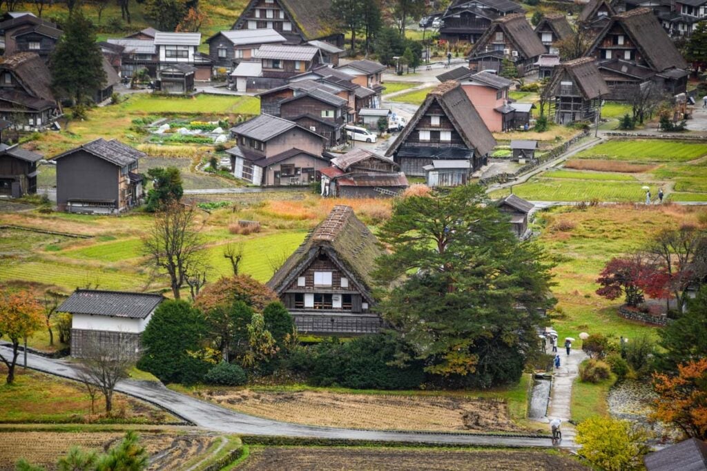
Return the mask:
POLYGON ((608 141, 575 155, 584 159, 613 159, 631 162, 686 162, 707 155, 707 144, 685 141, 637 139, 608 141))

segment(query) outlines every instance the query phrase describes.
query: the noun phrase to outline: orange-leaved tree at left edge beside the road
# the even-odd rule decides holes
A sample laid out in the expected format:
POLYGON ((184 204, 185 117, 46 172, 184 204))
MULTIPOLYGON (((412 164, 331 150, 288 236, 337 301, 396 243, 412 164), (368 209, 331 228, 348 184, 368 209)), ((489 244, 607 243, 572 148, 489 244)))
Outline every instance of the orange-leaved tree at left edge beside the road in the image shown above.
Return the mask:
POLYGON ((0 297, 0 338, 12 342, 12 359, 0 354, 7 366, 7 383, 15 381, 15 366, 19 354, 20 341, 42 328, 44 309, 30 292, 6 293, 0 297))

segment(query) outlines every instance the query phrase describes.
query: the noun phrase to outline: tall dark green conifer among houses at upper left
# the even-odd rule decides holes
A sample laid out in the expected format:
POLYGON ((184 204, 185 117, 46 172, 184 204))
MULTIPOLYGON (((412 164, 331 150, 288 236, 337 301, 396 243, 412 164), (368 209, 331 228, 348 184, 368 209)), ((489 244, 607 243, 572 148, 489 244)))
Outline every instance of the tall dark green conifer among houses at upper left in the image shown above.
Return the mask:
POLYGON ((83 13, 77 12, 67 21, 56 49, 49 61, 52 88, 77 105, 82 105, 96 90, 103 88, 105 71, 103 54, 95 40, 95 28, 83 13))

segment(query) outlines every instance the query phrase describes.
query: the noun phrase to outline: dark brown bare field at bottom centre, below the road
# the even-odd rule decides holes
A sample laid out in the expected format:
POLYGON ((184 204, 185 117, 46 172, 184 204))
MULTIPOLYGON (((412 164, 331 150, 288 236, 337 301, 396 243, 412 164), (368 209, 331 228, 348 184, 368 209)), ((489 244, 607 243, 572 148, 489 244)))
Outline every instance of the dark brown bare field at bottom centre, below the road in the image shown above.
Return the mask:
POLYGON ((251 447, 240 471, 269 470, 590 470, 543 451, 434 448, 251 447))

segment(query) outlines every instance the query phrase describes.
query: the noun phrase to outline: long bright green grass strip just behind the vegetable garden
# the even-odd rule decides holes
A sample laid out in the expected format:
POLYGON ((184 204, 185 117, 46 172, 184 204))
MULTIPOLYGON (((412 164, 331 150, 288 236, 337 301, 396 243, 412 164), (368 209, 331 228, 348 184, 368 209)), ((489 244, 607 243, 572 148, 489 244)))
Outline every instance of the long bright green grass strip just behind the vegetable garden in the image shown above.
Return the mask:
POLYGON ((164 97, 160 95, 132 95, 122 108, 128 112, 144 113, 228 113, 259 114, 257 97, 231 97, 223 95, 197 95, 193 98, 164 97))

